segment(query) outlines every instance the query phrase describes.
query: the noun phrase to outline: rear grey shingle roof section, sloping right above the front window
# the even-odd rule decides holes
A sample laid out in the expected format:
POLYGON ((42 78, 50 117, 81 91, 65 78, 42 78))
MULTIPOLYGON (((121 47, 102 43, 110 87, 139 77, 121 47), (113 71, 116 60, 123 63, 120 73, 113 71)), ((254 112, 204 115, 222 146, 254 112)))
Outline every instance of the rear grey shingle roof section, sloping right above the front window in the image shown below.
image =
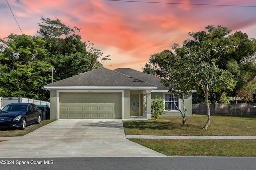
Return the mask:
POLYGON ((168 88, 163 83, 161 83, 161 79, 154 75, 143 73, 130 68, 118 68, 114 69, 114 71, 125 75, 129 75, 130 77, 134 77, 136 79, 155 85, 157 87, 157 90, 168 90, 168 88))

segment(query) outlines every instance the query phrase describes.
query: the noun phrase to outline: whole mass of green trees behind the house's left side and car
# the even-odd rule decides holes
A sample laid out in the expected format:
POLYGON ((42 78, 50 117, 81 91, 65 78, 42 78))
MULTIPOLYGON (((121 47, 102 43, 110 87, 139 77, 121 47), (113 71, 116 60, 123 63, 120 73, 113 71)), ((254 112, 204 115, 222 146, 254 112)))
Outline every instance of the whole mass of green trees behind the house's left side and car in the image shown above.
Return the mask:
POLYGON ((38 35, 10 34, 0 40, 0 96, 46 100, 44 85, 102 67, 109 55, 82 42, 77 27, 70 28, 58 18, 41 18, 38 35), (94 65, 92 67, 91 65, 94 65))

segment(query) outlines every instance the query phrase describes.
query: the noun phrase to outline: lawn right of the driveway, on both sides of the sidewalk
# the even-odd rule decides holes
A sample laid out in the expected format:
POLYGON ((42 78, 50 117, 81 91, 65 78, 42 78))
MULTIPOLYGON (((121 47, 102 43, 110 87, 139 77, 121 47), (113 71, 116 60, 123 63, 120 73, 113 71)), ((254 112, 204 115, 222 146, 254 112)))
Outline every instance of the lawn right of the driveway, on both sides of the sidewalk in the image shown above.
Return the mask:
MULTIPOLYGON (((161 117, 157 121, 124 121, 126 134, 185 136, 256 136, 256 116, 211 116, 207 130, 205 115, 161 117)), ((256 140, 241 139, 129 139, 168 156, 256 156, 256 140)))

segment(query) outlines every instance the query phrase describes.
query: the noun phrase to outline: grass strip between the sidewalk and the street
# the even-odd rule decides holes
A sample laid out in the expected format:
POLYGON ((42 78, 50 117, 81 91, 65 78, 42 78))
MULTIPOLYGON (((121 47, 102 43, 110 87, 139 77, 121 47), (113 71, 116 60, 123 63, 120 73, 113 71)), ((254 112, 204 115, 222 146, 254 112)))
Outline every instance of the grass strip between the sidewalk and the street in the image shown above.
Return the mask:
POLYGON ((256 140, 129 139, 168 156, 256 156, 256 140))

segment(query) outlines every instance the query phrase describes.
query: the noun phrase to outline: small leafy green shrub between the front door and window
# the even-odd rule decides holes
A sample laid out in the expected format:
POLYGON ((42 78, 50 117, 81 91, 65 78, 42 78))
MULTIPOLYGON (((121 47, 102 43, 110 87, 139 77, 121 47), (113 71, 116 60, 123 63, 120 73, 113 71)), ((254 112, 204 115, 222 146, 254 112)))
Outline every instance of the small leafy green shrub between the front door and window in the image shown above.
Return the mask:
POLYGON ((165 113, 164 99, 156 96, 151 102, 151 117, 156 120, 165 113))

